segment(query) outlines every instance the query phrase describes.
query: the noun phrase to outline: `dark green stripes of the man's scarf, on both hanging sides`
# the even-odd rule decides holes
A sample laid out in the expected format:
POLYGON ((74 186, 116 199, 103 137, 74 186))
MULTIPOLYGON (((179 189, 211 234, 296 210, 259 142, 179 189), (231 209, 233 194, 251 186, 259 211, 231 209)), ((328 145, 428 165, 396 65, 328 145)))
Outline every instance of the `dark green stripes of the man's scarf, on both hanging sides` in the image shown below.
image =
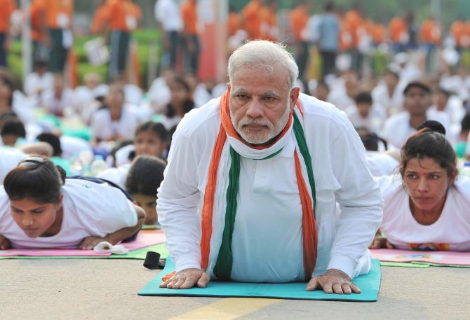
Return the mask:
MULTIPOLYGON (((299 151, 304 158, 305 165, 307 167, 307 174, 309 178, 309 184, 311 188, 311 195, 313 195, 313 204, 315 208, 316 196, 315 196, 315 180, 314 170, 311 167, 311 156, 309 148, 307 147, 307 141, 305 141, 304 130, 299 118, 294 112, 294 133, 297 144, 299 145, 299 151)), ((282 150, 282 149, 281 149, 282 150)), ((273 158, 278 155, 281 150, 267 156, 265 159, 273 158)), ((227 189, 227 209, 225 210, 225 225, 224 232, 222 233, 222 244, 220 244, 219 255, 217 256, 217 262, 214 267, 214 274, 219 280, 229 281, 231 277, 231 267, 234 263, 234 257, 231 252, 231 239, 234 233, 235 214, 236 214, 236 195, 239 193, 239 179, 240 179, 240 155, 234 151, 234 148, 230 147, 230 158, 231 165, 229 171, 229 187, 227 189)), ((314 209, 315 214, 315 209, 314 209)))

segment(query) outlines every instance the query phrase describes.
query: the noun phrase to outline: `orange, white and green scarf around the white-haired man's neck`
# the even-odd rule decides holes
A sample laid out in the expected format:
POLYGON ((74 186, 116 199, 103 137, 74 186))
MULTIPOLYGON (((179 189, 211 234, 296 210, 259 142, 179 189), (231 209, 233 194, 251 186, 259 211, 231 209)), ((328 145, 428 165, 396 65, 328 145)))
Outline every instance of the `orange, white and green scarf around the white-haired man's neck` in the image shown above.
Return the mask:
MULTIPOLYGON (((215 206, 215 199, 225 196, 227 203, 224 208, 225 225, 222 234, 222 244, 220 245, 217 262, 213 271, 217 276, 217 279, 230 279, 233 263, 231 239, 234 231, 237 207, 236 195, 239 192, 240 157, 264 160, 276 156, 282 151, 283 146, 286 146, 288 137, 290 137, 293 130, 297 141, 293 160, 295 162, 295 175, 302 204, 304 273, 305 279, 310 279, 311 273, 315 268, 317 256, 317 235, 314 214, 315 181, 311 166, 311 157, 302 127, 301 119, 303 119, 303 112, 300 104, 297 102, 295 110, 293 113, 290 113, 285 129, 281 134, 279 134, 276 141, 267 146, 250 146, 246 141, 239 137, 239 134, 237 134, 230 119, 229 92, 225 92, 220 100, 220 118, 220 130, 217 135, 217 140, 215 141, 215 146, 210 160, 208 181, 202 207, 202 269, 206 270, 208 267, 215 207, 218 207, 218 210, 223 209, 220 208, 220 206, 215 206), (228 146, 226 146, 227 144, 228 146), (305 169, 302 169, 301 160, 304 162, 305 169), (220 179, 221 175, 224 176, 224 179, 220 179), (228 183, 228 187, 221 188, 222 186, 217 186, 217 184, 222 183, 228 183), (227 194, 223 195, 221 190, 227 190, 227 194)), ((221 214, 223 215, 223 213, 221 214)))

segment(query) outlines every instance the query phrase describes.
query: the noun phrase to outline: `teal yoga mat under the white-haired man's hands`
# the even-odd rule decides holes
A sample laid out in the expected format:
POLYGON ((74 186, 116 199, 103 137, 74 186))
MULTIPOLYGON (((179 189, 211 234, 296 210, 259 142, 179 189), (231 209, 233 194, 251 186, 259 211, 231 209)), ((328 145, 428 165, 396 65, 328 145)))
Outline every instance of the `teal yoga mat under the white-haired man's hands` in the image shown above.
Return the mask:
POLYGON ((354 283, 361 288, 362 293, 350 295, 328 294, 323 291, 305 291, 305 282, 289 284, 254 284, 241 282, 211 281, 206 288, 167 289, 159 288, 161 278, 175 270, 175 265, 168 258, 165 269, 138 292, 138 295, 164 295, 164 296, 199 296, 199 297, 250 297, 250 298, 280 298, 299 300, 342 300, 342 301, 377 301, 380 288, 380 263, 372 260, 369 274, 354 279, 354 283))

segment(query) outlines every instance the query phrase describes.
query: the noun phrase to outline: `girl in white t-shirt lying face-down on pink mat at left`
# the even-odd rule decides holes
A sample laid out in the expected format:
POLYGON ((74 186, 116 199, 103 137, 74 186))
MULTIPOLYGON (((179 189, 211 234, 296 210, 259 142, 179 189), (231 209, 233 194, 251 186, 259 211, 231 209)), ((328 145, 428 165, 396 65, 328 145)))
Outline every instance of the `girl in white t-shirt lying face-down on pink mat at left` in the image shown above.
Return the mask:
POLYGON ((118 188, 65 179, 51 160, 30 157, 0 187, 0 249, 93 249, 134 235, 145 220, 118 188))

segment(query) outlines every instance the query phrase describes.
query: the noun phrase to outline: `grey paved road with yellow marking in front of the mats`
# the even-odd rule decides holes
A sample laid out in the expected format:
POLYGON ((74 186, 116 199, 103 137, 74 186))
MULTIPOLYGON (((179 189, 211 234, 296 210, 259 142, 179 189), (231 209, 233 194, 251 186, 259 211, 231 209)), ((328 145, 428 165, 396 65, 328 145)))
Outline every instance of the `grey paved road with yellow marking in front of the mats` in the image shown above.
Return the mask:
POLYGON ((470 269, 382 267, 377 302, 140 297, 142 260, 0 260, 0 319, 470 319, 470 269))

